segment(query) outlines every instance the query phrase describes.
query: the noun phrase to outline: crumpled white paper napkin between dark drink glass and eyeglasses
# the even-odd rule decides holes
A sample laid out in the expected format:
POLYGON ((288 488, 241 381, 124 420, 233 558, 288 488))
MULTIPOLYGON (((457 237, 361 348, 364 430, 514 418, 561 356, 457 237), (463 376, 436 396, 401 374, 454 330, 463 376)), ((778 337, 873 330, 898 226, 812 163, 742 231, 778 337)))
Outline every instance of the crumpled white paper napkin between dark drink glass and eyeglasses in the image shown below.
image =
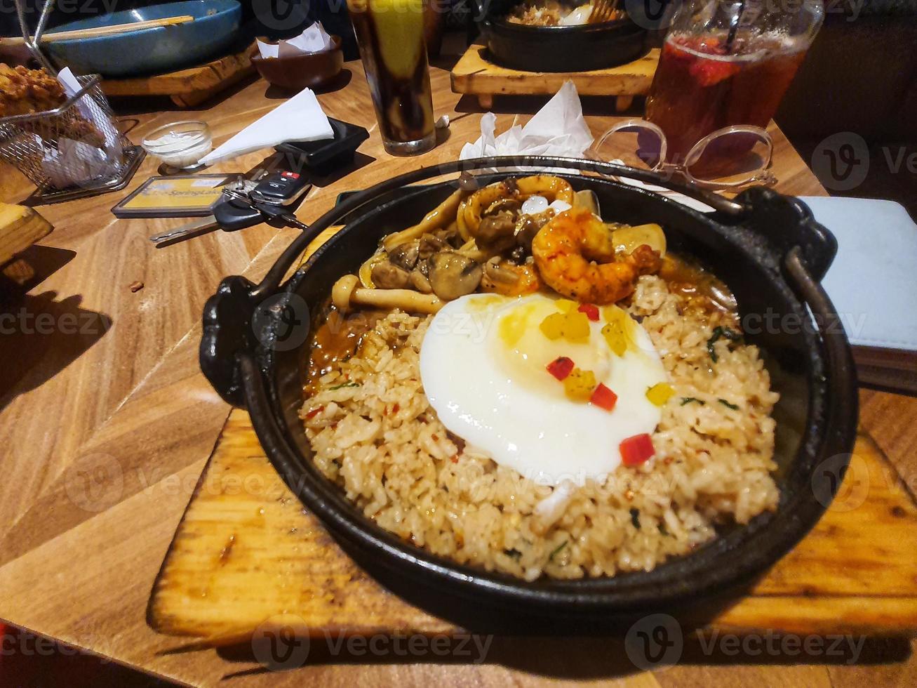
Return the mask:
POLYGON ((582 117, 580 95, 573 82, 566 82, 525 127, 514 125, 494 136, 497 117, 481 117, 481 138, 466 143, 460 160, 492 155, 553 155, 581 158, 592 145, 592 133, 582 117))

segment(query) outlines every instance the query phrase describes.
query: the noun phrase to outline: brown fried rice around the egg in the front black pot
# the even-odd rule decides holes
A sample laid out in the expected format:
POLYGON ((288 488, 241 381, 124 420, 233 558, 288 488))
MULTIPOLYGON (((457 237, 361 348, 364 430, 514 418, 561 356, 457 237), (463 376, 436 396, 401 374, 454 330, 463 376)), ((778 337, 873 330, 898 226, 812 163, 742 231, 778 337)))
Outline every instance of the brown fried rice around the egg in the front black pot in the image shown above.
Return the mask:
POLYGON ((386 530, 528 581, 650 571, 714 538, 719 523, 775 509, 770 414, 778 394, 757 347, 719 338, 708 348, 714 328, 735 327, 735 316, 692 308, 649 275, 626 307, 676 393, 646 463, 619 467, 601 483, 551 487, 466 447, 438 420, 421 383, 433 316, 393 311, 306 401, 315 464, 386 530))

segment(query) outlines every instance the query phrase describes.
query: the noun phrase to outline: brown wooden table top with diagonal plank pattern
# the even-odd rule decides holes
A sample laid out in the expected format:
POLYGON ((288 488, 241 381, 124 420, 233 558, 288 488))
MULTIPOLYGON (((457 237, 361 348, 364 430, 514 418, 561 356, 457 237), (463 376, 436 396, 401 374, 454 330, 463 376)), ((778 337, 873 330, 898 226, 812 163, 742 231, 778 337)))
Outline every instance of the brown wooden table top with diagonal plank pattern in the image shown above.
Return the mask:
MULTIPOLYGON (((480 133, 477 104, 449 89, 448 72, 433 69, 437 115, 452 119, 449 137, 419 158, 395 159, 382 151, 359 63, 347 65, 349 83, 320 94, 329 117, 370 129, 355 172, 316 186, 298 215, 308 222, 342 191, 364 188, 395 173, 458 157, 480 133)), ((279 101, 263 81, 249 83, 200 112, 156 112, 127 117, 135 141, 175 119, 201 118, 216 143, 262 116, 279 101)), ((586 104, 600 133, 613 117, 612 99, 586 104), (602 114, 604 112, 605 114, 602 114)), ((536 111, 538 101, 498 100, 498 130, 512 113, 536 111)), ((778 190, 824 190, 777 128, 774 169, 778 190)), ((246 156, 232 170, 259 165, 266 153, 246 156)), ((229 168, 227 168, 228 171, 229 168)), ((321 682, 481 682, 525 684, 551 679, 616 680, 639 685, 787 683, 860 686, 866 682, 913 684, 917 660, 907 640, 867 639, 855 665, 829 656, 687 657, 665 671, 640 672, 620 644, 602 639, 495 638, 487 660, 385 656, 334 658, 298 671, 274 673, 250 657, 207 649, 176 651, 185 643, 157 635, 146 624, 150 587, 204 461, 229 407, 197 365, 200 318, 206 298, 229 274, 260 277, 295 237, 267 226, 216 232, 157 250, 148 237, 181 220, 117 220, 116 201, 156 173, 144 161, 123 194, 61 205, 42 214, 55 230, 29 258, 44 278, 14 320, 0 320, 4 363, 0 372, 0 446, 4 447, 4 498, 0 500, 0 617, 144 671, 181 682, 233 685, 321 682), (132 292, 130 285, 144 283, 132 292), (48 314, 47 316, 44 314, 48 314), (12 325, 11 325, 12 324, 12 325), (15 358, 14 358, 15 357, 15 358), (15 361, 10 363, 10 361, 15 361), (99 475, 117 476, 94 489, 99 475), (908 677, 911 677, 910 679, 908 677)), ((0 196, 20 200, 26 183, 6 174, 0 196)), ((905 482, 917 479, 917 399, 862 391, 861 423, 894 462, 905 482)), ((894 546, 894 543, 889 543, 894 546)), ((898 543, 913 546, 913 543, 898 543)), ((687 653, 686 653, 687 655, 687 653)))

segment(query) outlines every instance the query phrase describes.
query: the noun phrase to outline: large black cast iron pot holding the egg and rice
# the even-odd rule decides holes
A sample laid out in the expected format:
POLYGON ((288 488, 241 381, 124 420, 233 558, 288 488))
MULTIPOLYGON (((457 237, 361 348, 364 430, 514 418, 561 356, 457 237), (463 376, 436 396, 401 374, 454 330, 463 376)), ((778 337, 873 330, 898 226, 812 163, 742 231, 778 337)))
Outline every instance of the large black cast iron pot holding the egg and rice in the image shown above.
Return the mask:
MULTIPOLYGON (((492 174, 485 181, 504 176, 492 174)), ((856 375, 844 329, 819 284, 835 248, 834 237, 805 205, 763 187, 728 201, 652 172, 595 161, 453 162, 352 195, 296 239, 260 284, 226 278, 204 309, 201 367, 226 401, 248 408, 261 445, 304 505, 355 560, 414 604, 465 627, 491 630, 532 628, 546 618, 554 631, 567 622, 580 631, 604 629, 654 610, 694 618, 702 602, 735 594, 793 547, 823 514, 839 483, 834 479, 845 470, 856 432, 856 375), (762 350, 780 394, 774 411, 781 495, 775 513, 747 526, 723 527, 713 542, 654 571, 525 583, 433 556, 383 531, 315 469, 296 413, 304 402, 302 371, 309 352, 289 345, 291 316, 307 319, 304 305, 315 313, 337 278, 355 272, 383 235, 415 224, 451 193, 455 172, 503 165, 569 169, 574 188, 598 195, 605 219, 659 223, 670 250, 696 257, 733 290, 746 337, 762 350), (716 212, 705 215, 659 194, 575 171, 667 186, 716 212), (447 174, 452 181, 407 186, 447 174), (282 283, 306 245, 342 218, 347 226, 282 283)), ((298 341, 303 339, 301 334, 298 341)))

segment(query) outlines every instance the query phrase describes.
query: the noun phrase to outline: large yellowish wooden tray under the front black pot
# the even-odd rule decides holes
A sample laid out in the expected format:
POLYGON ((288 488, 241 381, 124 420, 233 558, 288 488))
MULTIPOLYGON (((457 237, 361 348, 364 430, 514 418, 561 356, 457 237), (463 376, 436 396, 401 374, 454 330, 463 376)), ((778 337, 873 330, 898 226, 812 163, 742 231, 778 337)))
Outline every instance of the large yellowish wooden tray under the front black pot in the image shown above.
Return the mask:
MULTIPOLYGON (((860 435, 832 508, 710 627, 912 635, 915 543, 911 494, 860 435)), ((200 647, 207 647, 249 638, 279 615, 311 633, 458 630, 387 592, 348 559, 282 483, 249 415, 236 409, 153 586, 148 621, 160 633, 203 638, 200 647)))

